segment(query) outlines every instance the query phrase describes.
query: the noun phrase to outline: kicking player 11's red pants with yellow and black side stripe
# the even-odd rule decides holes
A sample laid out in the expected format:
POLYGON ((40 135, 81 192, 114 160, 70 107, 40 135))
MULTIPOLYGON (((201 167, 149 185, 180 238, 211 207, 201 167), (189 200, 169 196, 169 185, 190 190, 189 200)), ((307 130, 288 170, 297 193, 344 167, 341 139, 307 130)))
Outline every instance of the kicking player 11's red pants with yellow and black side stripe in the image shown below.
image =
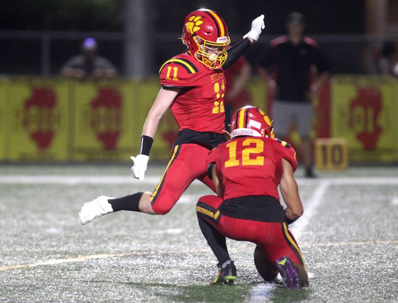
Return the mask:
POLYGON ((173 148, 163 176, 151 195, 152 209, 156 214, 165 215, 170 212, 195 179, 214 191, 214 184, 206 175, 206 157, 209 152, 192 143, 173 148))

